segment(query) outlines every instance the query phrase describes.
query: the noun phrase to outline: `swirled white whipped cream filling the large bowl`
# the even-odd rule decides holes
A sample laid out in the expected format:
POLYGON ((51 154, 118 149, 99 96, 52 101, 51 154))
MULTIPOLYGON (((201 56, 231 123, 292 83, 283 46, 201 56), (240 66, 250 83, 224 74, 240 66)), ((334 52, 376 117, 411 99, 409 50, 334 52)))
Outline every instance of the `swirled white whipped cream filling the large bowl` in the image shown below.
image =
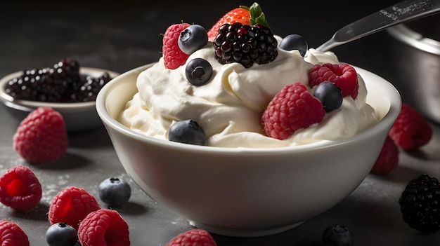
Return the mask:
POLYGON ((365 102, 365 83, 358 76, 356 100, 344 97, 340 109, 325 114, 321 123, 298 130, 288 139, 267 137, 261 127, 261 114, 273 96, 292 83, 308 86, 308 71, 313 64, 339 63, 336 55, 310 49, 302 57, 297 50, 278 49, 273 62, 246 69, 238 63, 217 62, 212 43, 208 43, 190 55, 187 62, 196 57, 212 64, 214 74, 208 83, 191 85, 185 76, 186 64, 167 69, 162 57, 138 76, 138 93, 127 102, 119 121, 127 128, 166 140, 171 125, 192 119, 205 130, 208 146, 249 148, 351 137, 377 122, 374 109, 365 102))

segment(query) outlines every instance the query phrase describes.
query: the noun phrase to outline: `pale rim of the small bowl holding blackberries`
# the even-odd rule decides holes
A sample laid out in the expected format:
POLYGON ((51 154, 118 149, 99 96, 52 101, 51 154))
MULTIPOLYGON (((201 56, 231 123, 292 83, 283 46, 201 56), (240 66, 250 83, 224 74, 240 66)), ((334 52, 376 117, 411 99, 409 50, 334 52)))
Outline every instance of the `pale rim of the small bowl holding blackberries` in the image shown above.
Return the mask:
MULTIPOLYGON (((108 69, 100 69, 96 67, 79 67, 80 74, 94 74, 94 73, 103 73, 108 72, 110 77, 116 78, 119 76, 119 73, 116 71, 111 71, 108 69)), ((33 111, 39 107, 51 107, 52 109, 67 113, 72 111, 89 111, 91 108, 94 108, 96 105, 95 101, 92 102, 38 102, 31 100, 15 100, 11 95, 6 93, 5 88, 8 81, 11 81, 13 78, 17 78, 22 75, 23 71, 15 71, 11 74, 7 74, 6 76, 0 78, 0 101, 3 102, 7 107, 11 107, 13 109, 18 109, 20 111, 33 111)), ((109 81, 110 82, 110 81, 109 81)))

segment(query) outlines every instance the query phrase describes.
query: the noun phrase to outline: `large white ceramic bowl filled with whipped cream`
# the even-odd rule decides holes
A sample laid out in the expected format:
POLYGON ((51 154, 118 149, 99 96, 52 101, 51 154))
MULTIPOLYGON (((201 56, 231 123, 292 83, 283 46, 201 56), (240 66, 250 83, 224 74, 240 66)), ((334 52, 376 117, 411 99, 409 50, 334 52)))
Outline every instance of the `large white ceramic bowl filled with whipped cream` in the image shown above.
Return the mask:
POLYGON ((401 107, 390 83, 356 68, 381 120, 354 137, 272 149, 181 144, 141 135, 117 121, 137 91, 136 77, 148 66, 104 86, 98 115, 124 169, 148 196, 223 235, 286 231, 349 196, 373 167, 401 107))

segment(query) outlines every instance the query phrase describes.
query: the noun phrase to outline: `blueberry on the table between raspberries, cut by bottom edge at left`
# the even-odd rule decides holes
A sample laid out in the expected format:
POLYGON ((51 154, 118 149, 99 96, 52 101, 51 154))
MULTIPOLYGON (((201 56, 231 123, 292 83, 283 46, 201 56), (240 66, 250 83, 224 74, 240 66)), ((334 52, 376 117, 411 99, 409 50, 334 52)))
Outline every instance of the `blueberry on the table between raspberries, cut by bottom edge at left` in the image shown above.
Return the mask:
POLYGON ((53 224, 46 231, 46 242, 49 246, 73 246, 77 240, 77 230, 65 223, 53 224))

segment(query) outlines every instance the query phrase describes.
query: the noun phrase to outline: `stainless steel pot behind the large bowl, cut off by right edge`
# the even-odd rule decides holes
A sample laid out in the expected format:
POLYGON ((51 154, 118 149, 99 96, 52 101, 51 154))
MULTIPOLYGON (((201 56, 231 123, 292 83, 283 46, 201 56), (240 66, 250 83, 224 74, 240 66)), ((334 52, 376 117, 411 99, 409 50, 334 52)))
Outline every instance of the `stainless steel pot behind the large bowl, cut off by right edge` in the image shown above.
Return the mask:
POLYGON ((440 15, 390 27, 387 32, 394 38, 394 86, 403 102, 440 123, 440 15))

